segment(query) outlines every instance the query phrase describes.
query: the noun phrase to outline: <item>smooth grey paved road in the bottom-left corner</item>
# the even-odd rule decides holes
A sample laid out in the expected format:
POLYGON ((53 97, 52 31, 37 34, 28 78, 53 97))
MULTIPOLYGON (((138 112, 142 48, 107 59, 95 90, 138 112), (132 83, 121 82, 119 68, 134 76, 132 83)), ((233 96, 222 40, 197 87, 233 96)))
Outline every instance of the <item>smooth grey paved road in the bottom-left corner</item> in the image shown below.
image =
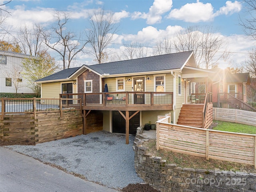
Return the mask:
POLYGON ((0 147, 1 192, 117 192, 0 147))

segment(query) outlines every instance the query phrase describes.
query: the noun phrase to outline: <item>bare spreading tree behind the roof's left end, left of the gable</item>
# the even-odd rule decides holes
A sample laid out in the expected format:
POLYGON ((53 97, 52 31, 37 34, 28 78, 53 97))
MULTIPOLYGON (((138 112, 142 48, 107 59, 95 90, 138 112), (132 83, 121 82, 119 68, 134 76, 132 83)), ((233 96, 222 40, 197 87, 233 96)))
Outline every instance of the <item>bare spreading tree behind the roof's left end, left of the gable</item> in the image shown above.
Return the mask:
POLYGON ((60 55, 63 69, 70 68, 71 61, 79 52, 83 52, 88 41, 82 40, 75 32, 67 30, 70 18, 66 12, 56 12, 55 17, 55 24, 48 30, 40 28, 40 32, 46 46, 60 55))

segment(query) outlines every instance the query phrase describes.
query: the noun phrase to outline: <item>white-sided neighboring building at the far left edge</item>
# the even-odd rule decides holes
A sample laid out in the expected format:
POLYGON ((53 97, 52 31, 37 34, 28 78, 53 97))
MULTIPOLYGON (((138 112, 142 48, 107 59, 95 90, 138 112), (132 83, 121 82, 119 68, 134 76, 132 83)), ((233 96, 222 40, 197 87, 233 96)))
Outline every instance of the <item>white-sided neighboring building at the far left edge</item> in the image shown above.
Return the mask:
POLYGON ((22 75, 22 60, 37 57, 0 51, 0 92, 2 93, 33 93, 28 81, 22 75))

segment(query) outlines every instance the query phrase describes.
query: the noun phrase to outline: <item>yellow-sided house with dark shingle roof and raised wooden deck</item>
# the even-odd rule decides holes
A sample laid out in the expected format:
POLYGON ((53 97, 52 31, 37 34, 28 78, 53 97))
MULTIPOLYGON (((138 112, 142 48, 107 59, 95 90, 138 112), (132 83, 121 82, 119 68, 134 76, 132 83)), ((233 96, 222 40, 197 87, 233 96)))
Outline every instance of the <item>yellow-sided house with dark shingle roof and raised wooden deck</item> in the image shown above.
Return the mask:
POLYGON ((135 134, 138 126, 156 122, 158 115, 171 114, 174 124, 186 124, 188 120, 182 120, 179 115, 182 106, 188 105, 187 110, 191 106, 192 94, 202 97, 195 103, 199 108, 188 114, 201 116, 198 127, 204 127, 202 111, 207 93, 212 91, 209 73, 214 72, 197 68, 194 52, 187 51, 83 65, 62 70, 36 83, 42 84, 42 98, 81 98, 84 118, 92 111, 100 112, 104 130, 128 136, 135 134), (200 93, 196 93, 196 85, 200 86, 200 93), (199 115, 196 110, 200 110, 199 115))

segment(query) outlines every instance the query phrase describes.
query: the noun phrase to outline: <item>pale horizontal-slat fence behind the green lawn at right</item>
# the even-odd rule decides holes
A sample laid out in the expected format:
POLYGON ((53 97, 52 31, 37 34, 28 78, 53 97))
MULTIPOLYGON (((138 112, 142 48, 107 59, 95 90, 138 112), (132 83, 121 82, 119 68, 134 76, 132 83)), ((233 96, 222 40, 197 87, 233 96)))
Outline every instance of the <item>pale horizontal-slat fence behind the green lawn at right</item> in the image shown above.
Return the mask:
POLYGON ((213 119, 256 126, 256 112, 240 109, 213 108, 213 119))

